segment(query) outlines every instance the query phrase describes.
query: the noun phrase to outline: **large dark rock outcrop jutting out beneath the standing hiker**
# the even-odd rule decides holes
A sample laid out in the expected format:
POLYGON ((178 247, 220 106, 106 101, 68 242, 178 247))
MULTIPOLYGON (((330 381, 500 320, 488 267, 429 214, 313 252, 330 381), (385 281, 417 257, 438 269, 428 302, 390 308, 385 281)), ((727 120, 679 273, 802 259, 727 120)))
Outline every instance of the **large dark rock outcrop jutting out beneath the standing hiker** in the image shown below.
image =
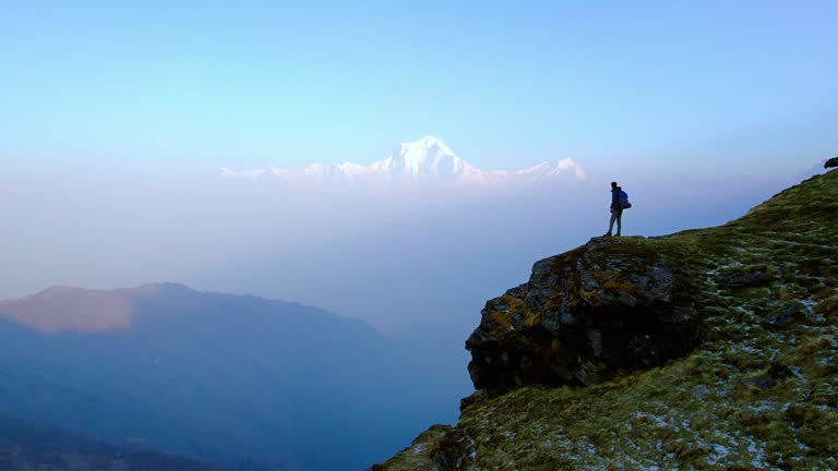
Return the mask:
POLYGON ((590 385, 695 348, 689 289, 658 253, 626 242, 594 239, 540 261, 529 282, 489 301, 466 341, 475 388, 590 385))

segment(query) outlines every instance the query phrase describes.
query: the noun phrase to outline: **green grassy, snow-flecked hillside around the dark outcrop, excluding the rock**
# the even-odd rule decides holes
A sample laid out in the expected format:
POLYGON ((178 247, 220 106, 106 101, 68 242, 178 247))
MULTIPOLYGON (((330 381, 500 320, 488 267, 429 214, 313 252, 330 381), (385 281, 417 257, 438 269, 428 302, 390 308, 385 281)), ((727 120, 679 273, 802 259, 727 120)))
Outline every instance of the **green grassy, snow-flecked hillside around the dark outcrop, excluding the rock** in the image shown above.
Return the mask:
POLYGON ((696 350, 478 402, 375 469, 838 468, 838 172, 721 227, 611 243, 680 267, 703 317, 696 350))

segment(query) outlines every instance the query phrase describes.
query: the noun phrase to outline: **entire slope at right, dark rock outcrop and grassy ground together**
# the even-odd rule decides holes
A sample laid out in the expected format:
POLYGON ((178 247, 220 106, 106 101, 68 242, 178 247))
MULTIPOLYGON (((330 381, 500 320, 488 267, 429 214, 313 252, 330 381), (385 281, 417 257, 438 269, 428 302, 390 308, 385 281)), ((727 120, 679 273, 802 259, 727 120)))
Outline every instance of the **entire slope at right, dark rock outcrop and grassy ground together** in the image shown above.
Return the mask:
POLYGON ((489 301, 477 391, 373 470, 838 469, 838 172, 489 301))

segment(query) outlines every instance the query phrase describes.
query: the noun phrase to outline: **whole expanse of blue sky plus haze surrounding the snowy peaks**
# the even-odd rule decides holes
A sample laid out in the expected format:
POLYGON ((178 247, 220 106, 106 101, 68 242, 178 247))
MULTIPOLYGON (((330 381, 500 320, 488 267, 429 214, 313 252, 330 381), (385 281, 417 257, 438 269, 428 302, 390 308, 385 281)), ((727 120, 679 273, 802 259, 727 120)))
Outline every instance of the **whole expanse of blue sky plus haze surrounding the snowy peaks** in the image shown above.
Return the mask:
POLYGON ((653 235, 838 154, 834 1, 7 3, 0 298, 179 281, 470 327, 604 232, 613 179, 626 233, 653 235), (590 179, 424 201, 218 173, 368 164, 426 134, 480 168, 571 157, 590 179))

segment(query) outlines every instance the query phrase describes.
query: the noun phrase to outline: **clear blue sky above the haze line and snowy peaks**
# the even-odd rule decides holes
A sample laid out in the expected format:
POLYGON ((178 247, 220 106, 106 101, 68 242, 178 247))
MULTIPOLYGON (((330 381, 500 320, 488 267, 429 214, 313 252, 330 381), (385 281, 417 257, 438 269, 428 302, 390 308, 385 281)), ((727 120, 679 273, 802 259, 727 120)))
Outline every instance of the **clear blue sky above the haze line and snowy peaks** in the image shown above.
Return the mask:
POLYGON ((486 168, 838 153, 834 1, 118 3, 4 5, 0 158, 299 167, 424 134, 486 168))

